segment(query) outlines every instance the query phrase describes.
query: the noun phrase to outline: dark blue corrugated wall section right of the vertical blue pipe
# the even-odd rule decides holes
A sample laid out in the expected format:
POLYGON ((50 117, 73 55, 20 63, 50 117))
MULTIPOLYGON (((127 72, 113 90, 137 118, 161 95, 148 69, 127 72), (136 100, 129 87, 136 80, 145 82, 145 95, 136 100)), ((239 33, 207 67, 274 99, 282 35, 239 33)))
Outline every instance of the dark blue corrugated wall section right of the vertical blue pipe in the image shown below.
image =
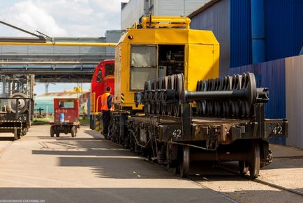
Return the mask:
POLYGON ((267 60, 296 56, 303 46, 303 1, 266 0, 267 60))

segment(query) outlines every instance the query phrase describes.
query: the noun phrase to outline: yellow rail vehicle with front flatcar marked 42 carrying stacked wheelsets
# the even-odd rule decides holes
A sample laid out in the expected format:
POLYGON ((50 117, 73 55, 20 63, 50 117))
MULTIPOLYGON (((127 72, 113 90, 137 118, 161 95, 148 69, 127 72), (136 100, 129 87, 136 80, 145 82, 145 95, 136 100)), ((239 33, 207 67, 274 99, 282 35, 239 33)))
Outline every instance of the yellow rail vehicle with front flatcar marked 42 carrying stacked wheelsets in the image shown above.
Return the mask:
POLYGON ((108 138, 190 174, 192 161, 239 161, 258 177, 272 161, 267 138, 286 136, 286 120, 265 119, 267 88, 253 74, 219 76, 219 43, 186 17, 143 17, 115 49, 108 138))

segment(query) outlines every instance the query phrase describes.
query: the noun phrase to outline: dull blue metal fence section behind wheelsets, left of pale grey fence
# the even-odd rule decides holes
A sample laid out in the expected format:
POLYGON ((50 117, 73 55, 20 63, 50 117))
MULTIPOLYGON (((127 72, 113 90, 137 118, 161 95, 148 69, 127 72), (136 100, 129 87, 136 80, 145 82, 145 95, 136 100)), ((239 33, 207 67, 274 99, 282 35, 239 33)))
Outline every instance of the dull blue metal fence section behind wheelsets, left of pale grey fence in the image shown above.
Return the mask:
MULTIPOLYGON (((285 59, 230 69, 230 74, 242 74, 243 72, 253 72, 256 75, 258 88, 269 88, 269 101, 265 105, 265 116, 267 118, 286 117, 285 59)), ((285 138, 273 138, 269 141, 286 145, 285 138)))

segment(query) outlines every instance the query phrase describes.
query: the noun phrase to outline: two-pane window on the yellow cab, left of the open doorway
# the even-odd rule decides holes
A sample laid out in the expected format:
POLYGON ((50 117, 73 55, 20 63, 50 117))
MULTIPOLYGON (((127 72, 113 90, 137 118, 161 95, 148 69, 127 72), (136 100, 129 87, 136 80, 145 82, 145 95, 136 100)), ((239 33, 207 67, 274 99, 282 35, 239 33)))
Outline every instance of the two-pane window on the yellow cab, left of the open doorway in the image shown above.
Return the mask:
POLYGON ((157 47, 133 45, 131 47, 131 90, 143 90, 145 81, 156 78, 157 47))

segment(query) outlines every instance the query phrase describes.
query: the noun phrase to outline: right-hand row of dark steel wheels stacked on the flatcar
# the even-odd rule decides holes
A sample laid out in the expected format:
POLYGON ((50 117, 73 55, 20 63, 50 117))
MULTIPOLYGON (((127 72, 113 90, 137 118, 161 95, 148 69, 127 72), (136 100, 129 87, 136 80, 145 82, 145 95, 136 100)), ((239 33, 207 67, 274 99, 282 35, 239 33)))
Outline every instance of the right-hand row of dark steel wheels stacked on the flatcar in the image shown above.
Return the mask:
MULTIPOLYGON (((205 117, 251 117, 254 102, 249 97, 251 88, 256 92, 256 81, 251 73, 233 76, 224 76, 219 79, 208 79, 198 81, 196 91, 237 91, 245 90, 246 97, 242 98, 223 98, 216 100, 198 100, 196 101, 196 111, 198 115, 205 117)), ((257 95, 255 94, 254 97, 257 95)), ((256 99, 255 99, 256 101, 256 99)))

